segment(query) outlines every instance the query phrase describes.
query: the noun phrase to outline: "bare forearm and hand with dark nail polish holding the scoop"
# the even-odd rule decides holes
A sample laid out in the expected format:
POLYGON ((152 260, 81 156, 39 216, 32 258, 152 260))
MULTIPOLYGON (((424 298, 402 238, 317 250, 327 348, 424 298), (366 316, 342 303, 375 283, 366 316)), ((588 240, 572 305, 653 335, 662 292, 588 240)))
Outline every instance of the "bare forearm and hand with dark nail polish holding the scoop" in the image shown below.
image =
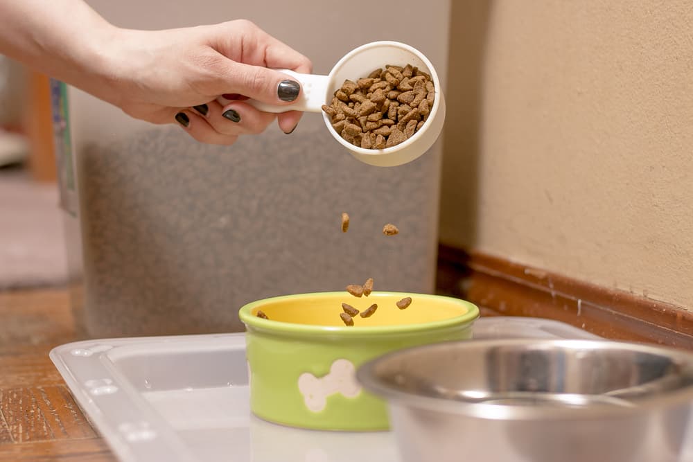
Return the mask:
POLYGON ((238 94, 288 105, 299 84, 267 68, 312 71, 306 57, 249 21, 128 30, 83 0, 0 0, 0 18, 0 52, 133 117, 179 123, 199 141, 231 144, 240 134, 262 132, 274 118, 290 133, 301 117, 260 112, 242 100, 216 102, 238 94))

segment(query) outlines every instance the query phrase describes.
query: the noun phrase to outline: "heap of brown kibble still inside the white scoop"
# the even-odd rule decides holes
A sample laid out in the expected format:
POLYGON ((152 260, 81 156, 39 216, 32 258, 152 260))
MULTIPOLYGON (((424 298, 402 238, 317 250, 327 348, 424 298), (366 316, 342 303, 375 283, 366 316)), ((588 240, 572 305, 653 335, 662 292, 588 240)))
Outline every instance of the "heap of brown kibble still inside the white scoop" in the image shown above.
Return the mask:
POLYGON ((385 149, 409 139, 426 122, 435 100, 430 75, 411 64, 386 65, 356 82, 344 80, 322 110, 343 139, 385 149))

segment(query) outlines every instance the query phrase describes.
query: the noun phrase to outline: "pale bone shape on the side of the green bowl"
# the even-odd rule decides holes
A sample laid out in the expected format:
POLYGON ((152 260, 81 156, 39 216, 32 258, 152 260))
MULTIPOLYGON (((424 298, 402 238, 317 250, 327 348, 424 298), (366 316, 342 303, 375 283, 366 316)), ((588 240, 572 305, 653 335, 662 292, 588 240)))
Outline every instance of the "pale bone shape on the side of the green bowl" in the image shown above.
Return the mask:
POLYGON ((303 373, 299 377, 299 391, 310 411, 325 409, 328 396, 341 393, 344 398, 356 398, 361 386, 356 381, 356 367, 348 359, 337 359, 324 377, 303 373))

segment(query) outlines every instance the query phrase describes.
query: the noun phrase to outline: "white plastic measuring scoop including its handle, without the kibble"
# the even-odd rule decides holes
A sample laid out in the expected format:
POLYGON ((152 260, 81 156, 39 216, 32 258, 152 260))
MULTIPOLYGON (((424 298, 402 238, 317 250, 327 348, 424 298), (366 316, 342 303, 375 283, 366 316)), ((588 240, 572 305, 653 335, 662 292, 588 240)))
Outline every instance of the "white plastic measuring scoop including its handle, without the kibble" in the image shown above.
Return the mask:
MULTIPOLYGON (((435 68, 426 56, 412 46, 400 42, 371 42, 354 48, 342 57, 328 75, 302 74, 287 69, 277 69, 291 75, 301 84, 301 94, 290 105, 270 105, 257 100, 245 100, 264 112, 322 112, 327 130, 337 142, 347 148, 356 159, 378 167, 394 167, 421 157, 435 143, 445 121, 445 99, 435 68), (385 149, 364 149, 349 143, 332 127, 330 116, 322 111, 322 105, 332 101, 335 91, 342 87, 344 80, 356 82, 367 77, 371 71, 384 68, 386 64, 405 66, 412 64, 428 73, 435 87, 435 100, 430 108, 426 123, 406 141, 385 149)), ((229 100, 220 97, 219 103, 226 105, 229 100)))

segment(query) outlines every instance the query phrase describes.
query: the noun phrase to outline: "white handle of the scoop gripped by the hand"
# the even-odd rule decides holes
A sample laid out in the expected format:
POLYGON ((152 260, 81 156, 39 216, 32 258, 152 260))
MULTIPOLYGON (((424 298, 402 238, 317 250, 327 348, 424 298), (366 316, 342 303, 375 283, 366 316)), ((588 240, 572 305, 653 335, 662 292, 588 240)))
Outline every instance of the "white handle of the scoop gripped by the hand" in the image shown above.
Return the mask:
MULTIPOLYGON (((280 106, 250 99, 243 101, 243 103, 256 107, 263 112, 272 112, 274 114, 287 111, 322 112, 322 105, 325 104, 329 82, 327 75, 302 74, 289 69, 277 69, 277 71, 291 75, 292 78, 301 84, 301 94, 294 102, 290 105, 280 106)), ((217 101, 222 106, 231 103, 230 100, 223 96, 219 96, 217 101)))

